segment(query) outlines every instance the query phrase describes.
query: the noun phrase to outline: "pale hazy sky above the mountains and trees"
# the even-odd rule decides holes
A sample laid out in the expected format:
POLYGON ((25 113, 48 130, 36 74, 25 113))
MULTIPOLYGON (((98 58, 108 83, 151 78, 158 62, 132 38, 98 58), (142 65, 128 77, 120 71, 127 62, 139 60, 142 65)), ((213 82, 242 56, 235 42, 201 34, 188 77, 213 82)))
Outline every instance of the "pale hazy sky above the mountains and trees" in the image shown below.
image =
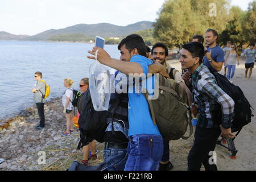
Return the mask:
MULTIPOLYGON (((247 9, 252 0, 232 0, 247 9)), ((0 0, 0 31, 35 35, 75 24, 154 21, 164 0, 0 0)))

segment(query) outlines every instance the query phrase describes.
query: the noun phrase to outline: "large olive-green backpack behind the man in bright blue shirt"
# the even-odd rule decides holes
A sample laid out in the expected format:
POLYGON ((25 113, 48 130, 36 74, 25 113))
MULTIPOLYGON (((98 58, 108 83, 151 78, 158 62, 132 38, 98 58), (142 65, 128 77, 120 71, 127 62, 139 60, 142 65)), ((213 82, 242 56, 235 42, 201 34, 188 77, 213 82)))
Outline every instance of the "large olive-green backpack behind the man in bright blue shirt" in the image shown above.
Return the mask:
MULTIPOLYGON (((157 81, 157 79, 156 79, 157 81)), ((193 134, 192 116, 187 93, 173 79, 159 75, 159 97, 148 100, 146 97, 154 124, 166 140, 188 139, 193 134), (189 137, 184 137, 189 125, 189 137)))

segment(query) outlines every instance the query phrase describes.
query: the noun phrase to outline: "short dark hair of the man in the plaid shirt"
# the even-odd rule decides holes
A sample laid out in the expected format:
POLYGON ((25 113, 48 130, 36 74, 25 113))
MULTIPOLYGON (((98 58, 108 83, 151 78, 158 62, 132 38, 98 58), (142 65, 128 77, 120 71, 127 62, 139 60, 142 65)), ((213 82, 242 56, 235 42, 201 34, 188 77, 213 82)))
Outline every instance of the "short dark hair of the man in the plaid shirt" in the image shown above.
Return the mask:
POLYGON ((199 42, 191 42, 191 43, 184 44, 181 47, 186 49, 187 51, 189 51, 193 58, 199 57, 200 58, 200 60, 199 60, 200 64, 203 63, 203 58, 204 58, 204 46, 203 46, 203 44, 201 44, 199 42))

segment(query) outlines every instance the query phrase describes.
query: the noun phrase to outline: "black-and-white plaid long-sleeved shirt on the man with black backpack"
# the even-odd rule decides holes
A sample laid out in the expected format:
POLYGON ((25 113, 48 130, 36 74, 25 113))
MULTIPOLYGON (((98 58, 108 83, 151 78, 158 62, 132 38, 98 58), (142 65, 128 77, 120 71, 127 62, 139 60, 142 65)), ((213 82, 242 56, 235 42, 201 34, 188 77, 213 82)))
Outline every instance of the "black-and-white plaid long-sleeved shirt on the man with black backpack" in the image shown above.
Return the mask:
POLYGON ((198 127, 231 127, 234 101, 218 85, 209 69, 201 64, 191 76, 193 98, 199 105, 198 127))

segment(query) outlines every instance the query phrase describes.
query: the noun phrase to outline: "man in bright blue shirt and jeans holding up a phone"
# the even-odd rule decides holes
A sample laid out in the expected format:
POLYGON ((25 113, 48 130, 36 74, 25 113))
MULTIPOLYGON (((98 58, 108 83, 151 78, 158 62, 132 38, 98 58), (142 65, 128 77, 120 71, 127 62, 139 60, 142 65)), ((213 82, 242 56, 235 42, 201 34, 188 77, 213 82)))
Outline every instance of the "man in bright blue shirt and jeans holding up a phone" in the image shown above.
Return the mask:
MULTIPOLYGON (((140 77, 147 75, 148 65, 151 61, 146 58, 146 45, 139 35, 129 35, 118 46, 121 52, 120 60, 112 59, 104 49, 94 47, 88 51, 100 63, 125 73, 126 75, 138 74, 140 77)), ((154 76, 147 78, 146 82, 154 80, 154 76)), ((154 82, 154 81, 152 81, 154 82)), ((146 98, 141 93, 145 84, 131 85, 129 82, 129 146, 126 171, 156 171, 163 154, 163 139, 158 127, 153 124, 146 98), (139 93, 130 93, 139 87, 139 93)), ((154 89, 147 88, 148 92, 154 89)))

